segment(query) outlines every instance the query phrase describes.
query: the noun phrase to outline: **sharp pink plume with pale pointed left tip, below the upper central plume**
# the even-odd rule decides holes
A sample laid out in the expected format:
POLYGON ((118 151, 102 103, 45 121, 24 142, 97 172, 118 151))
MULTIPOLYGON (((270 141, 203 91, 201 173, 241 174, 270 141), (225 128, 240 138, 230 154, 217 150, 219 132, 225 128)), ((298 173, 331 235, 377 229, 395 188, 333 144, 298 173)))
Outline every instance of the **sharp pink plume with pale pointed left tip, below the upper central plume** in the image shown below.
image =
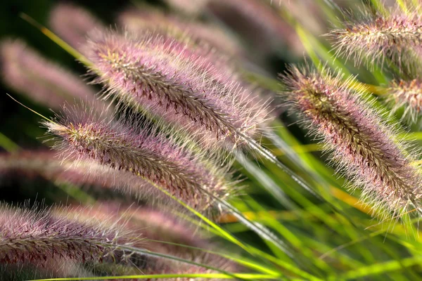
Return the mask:
POLYGON ((192 151, 191 144, 170 129, 161 132, 152 124, 136 126, 130 120, 113 122, 76 112, 67 110, 58 122, 44 123, 59 137, 56 147, 63 155, 141 176, 198 209, 212 202, 207 192, 219 198, 230 192, 226 169, 205 160, 203 152, 192 151))

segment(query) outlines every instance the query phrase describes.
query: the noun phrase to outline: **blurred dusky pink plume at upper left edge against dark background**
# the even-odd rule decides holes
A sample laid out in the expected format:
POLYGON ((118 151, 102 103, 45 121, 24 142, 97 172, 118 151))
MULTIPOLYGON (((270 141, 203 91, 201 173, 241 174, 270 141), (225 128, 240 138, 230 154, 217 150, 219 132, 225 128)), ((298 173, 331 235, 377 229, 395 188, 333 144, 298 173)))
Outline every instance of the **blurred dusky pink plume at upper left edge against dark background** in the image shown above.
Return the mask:
MULTIPOLYGON (((96 91, 72 74, 26 46, 23 41, 5 40, 0 45, 1 75, 11 89, 59 110, 66 101, 92 102, 96 91)), ((100 103, 96 103, 101 107, 100 103)))

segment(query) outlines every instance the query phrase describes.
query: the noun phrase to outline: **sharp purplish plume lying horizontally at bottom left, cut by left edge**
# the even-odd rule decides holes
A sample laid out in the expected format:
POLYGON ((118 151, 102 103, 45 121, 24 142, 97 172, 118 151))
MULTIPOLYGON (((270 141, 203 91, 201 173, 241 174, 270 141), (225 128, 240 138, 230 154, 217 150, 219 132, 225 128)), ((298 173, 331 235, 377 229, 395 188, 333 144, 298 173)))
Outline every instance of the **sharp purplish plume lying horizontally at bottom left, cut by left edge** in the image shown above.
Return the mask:
POLYGON ((1 206, 0 263, 37 263, 72 259, 81 263, 124 261, 120 245, 129 245, 119 228, 99 221, 53 214, 49 209, 15 209, 1 206))

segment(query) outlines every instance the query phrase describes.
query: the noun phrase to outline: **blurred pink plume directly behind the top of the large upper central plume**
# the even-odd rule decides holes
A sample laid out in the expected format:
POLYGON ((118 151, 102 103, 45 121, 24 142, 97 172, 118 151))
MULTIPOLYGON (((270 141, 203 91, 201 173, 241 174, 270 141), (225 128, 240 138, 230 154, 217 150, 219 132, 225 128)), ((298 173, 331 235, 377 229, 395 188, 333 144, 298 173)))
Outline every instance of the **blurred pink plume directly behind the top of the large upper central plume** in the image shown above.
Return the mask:
MULTIPOLYGON (((144 7, 141 11, 124 11, 119 21, 139 38, 146 35, 171 41, 175 55, 190 60, 198 67, 197 71, 207 73, 216 85, 237 84, 240 91, 236 94, 248 100, 245 106, 251 115, 256 115, 256 119, 269 121, 273 118, 269 103, 274 95, 267 93, 267 99, 264 98, 261 89, 245 80, 241 67, 245 50, 233 35, 210 23, 181 20, 151 7, 144 7), (178 53, 179 50, 184 51, 178 53)), ((262 124, 262 128, 264 126, 262 124)))

